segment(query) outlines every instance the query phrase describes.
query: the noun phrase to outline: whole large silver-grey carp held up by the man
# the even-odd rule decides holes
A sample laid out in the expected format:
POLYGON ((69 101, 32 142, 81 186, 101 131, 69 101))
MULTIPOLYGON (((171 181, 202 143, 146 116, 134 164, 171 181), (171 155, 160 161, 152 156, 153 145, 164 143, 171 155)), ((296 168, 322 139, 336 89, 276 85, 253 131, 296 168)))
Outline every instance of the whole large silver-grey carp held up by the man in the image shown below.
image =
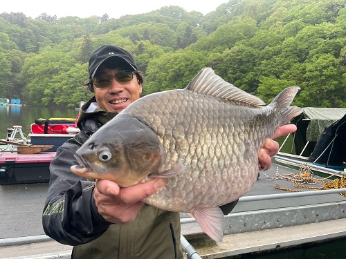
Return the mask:
POLYGON ((253 186, 264 141, 302 112, 290 106, 299 89, 286 88, 263 106, 203 68, 187 88, 142 97, 102 126, 77 151, 80 166, 71 171, 122 187, 163 177, 165 187, 144 202, 192 214, 221 242, 219 206, 253 186))

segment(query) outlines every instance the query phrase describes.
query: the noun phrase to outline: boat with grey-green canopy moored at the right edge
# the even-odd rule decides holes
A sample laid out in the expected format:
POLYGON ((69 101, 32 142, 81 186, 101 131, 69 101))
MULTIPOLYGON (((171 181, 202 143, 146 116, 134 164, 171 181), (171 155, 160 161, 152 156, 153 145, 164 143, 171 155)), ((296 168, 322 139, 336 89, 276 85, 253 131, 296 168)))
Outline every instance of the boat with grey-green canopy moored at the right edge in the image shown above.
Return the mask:
POLYGON ((291 123, 297 126, 291 151, 281 151, 288 135, 275 161, 293 169, 307 165, 318 175, 340 177, 339 172, 346 169, 346 108, 303 108, 291 123))

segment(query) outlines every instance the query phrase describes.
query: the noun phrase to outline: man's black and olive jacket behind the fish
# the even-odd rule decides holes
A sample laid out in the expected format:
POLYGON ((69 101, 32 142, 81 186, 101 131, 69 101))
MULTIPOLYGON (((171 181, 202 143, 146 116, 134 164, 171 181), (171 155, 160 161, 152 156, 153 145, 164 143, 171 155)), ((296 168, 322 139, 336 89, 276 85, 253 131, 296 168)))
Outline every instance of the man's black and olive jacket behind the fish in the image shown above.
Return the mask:
POLYGON ((180 215, 147 204, 134 222, 111 224, 98 213, 93 198, 94 182, 70 171, 78 164, 75 151, 116 113, 99 108, 84 113, 78 135, 65 142, 51 162, 51 180, 42 223, 47 236, 75 246, 72 258, 183 258, 180 245, 180 215))

